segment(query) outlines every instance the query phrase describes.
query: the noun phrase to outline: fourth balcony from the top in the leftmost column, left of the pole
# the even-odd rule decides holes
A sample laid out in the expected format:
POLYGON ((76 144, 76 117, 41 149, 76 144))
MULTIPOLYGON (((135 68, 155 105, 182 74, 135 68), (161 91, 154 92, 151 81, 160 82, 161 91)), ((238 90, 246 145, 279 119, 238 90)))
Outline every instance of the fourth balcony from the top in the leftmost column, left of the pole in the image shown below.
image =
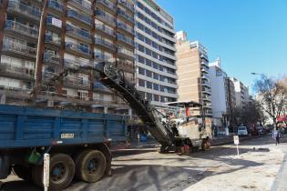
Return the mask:
POLYGON ((8 63, 0 64, 0 74, 22 80, 34 80, 34 68, 15 66, 8 63))

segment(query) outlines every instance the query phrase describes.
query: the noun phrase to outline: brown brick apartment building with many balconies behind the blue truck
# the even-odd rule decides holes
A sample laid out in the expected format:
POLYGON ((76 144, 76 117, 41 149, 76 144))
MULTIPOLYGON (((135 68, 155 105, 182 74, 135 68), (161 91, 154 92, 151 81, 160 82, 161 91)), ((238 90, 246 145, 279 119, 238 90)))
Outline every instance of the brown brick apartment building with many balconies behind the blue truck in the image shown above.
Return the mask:
POLYGON ((37 89, 37 103, 47 106, 128 109, 92 72, 68 73, 51 87, 35 87, 67 68, 101 61, 113 62, 135 83, 132 0, 1 0, 0 5, 2 103, 25 104, 37 89))

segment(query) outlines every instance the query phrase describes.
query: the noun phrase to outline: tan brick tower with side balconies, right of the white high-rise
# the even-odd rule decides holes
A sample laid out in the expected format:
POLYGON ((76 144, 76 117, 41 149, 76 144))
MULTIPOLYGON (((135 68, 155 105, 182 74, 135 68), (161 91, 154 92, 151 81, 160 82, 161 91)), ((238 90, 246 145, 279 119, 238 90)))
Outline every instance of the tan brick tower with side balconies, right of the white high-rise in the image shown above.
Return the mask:
MULTIPOLYGON (((176 38, 179 101, 199 102, 205 116, 212 117, 207 49, 198 41, 190 42, 184 32, 178 32, 176 38)), ((194 111, 193 115, 200 113, 194 111)))

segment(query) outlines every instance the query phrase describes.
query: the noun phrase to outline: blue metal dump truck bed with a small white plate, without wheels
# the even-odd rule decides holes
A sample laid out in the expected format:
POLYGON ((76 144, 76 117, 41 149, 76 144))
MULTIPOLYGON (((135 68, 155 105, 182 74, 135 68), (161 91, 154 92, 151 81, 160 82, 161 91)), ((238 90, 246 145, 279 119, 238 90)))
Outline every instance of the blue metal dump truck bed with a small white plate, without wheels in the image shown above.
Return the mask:
POLYGON ((126 117, 0 105, 0 150, 126 140, 126 117))

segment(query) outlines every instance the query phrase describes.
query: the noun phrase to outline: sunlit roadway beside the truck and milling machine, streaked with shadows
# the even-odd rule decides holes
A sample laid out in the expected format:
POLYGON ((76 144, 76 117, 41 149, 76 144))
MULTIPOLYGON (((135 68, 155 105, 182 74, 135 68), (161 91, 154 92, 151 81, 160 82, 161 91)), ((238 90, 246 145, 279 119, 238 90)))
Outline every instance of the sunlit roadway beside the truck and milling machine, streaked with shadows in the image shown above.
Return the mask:
MULTIPOLYGON (((240 156, 232 145, 190 156, 129 149, 115 154, 113 176, 95 184, 75 181, 67 190, 277 190, 280 185, 274 180, 286 145, 275 146, 270 136, 244 141, 240 156)), ((0 190, 41 190, 15 176, 4 182, 0 190)))

